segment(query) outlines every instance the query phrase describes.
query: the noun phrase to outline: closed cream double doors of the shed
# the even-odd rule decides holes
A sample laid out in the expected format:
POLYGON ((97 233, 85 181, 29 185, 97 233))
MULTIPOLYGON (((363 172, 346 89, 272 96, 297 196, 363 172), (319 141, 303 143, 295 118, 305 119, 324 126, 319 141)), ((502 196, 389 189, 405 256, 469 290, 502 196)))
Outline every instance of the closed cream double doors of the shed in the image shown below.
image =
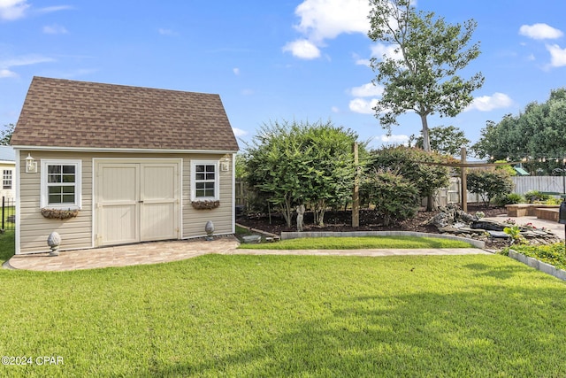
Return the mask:
POLYGON ((96 165, 96 245, 179 238, 179 163, 96 165))

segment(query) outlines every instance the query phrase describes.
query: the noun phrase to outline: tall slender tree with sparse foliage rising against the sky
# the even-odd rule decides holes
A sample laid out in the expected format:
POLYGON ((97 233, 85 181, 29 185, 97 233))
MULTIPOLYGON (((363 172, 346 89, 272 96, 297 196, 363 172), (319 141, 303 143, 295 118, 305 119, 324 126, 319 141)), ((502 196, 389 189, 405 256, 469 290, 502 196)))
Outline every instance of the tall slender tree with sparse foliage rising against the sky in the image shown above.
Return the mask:
POLYGON ((374 42, 394 47, 394 56, 371 58, 377 71, 373 83, 384 86, 373 108, 382 127, 391 130, 397 117, 414 111, 422 122, 424 150, 431 150, 427 117, 455 117, 471 103, 471 92, 484 83, 481 73, 469 80, 457 73, 478 58, 479 43, 467 48, 477 26, 469 19, 450 25, 433 12, 417 12, 410 0, 370 0, 371 28, 374 42))

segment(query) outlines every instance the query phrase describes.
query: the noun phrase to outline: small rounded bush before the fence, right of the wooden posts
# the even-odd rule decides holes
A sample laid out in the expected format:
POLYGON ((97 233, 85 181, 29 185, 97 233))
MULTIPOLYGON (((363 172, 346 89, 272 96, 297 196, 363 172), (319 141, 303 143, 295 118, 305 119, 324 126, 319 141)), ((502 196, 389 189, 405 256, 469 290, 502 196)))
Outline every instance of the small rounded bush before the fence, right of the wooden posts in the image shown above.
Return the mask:
POLYGON ((513 191, 509 173, 501 169, 470 170, 467 184, 468 190, 481 196, 486 206, 494 197, 504 197, 513 191))

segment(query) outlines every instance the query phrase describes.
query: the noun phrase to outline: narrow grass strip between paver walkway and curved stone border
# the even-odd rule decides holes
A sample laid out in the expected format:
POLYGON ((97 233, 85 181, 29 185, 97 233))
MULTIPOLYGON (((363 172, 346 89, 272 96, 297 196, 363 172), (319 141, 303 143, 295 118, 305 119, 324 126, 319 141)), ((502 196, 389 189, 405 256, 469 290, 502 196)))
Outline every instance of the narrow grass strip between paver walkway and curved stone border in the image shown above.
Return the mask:
POLYGON ((415 249, 415 248, 473 248, 470 243, 440 237, 420 236, 356 236, 302 237, 278 243, 241 244, 242 249, 255 250, 356 250, 356 249, 415 249))

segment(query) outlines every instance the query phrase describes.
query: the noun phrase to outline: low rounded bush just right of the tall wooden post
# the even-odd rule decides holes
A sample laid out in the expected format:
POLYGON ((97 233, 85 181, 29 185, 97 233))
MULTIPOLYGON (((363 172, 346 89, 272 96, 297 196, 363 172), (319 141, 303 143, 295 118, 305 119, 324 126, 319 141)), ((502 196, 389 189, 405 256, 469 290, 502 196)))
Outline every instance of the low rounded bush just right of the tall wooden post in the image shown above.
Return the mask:
POLYGON ((361 187, 371 204, 375 204, 375 212, 383 217, 384 226, 417 213, 418 190, 401 174, 373 170, 365 174, 361 187))

